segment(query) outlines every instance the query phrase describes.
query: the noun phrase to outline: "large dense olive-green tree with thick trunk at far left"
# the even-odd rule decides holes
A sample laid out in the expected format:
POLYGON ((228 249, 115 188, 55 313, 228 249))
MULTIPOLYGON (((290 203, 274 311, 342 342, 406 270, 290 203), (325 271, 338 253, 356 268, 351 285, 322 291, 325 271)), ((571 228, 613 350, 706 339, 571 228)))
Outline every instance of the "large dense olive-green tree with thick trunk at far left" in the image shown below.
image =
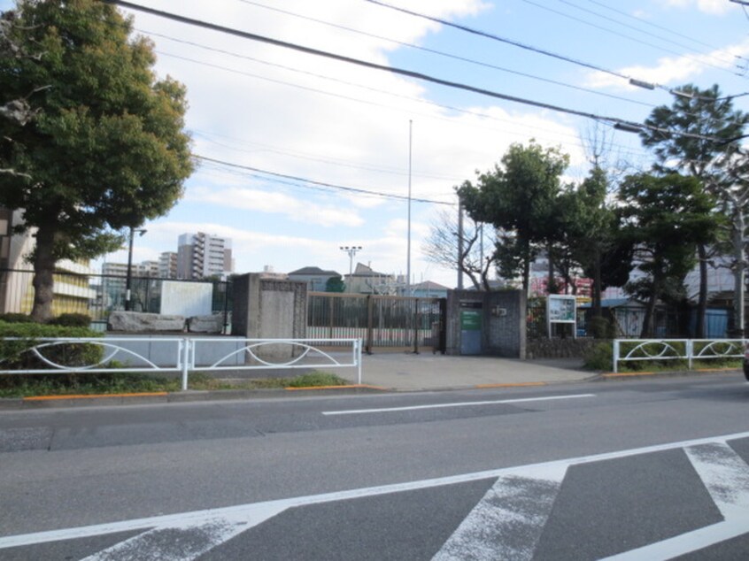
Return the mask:
POLYGON ((51 313, 61 258, 101 255, 119 234, 166 213, 192 172, 185 89, 157 80, 151 42, 96 0, 17 0, 5 40, 28 56, 0 58, 0 105, 26 99, 25 126, 0 120, 0 205, 35 228, 32 315, 51 313), (37 91, 40 85, 45 88, 37 91))

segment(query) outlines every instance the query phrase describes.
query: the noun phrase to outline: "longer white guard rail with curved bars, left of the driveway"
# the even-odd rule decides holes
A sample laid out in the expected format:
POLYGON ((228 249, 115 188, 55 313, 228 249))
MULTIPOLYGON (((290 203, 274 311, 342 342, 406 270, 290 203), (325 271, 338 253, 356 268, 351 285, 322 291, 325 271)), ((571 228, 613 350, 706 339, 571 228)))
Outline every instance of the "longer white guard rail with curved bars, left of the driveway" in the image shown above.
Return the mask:
POLYGON ((180 373, 186 390, 191 372, 356 368, 361 383, 360 339, 69 337, 37 338, 31 346, 17 337, 3 341, 19 347, 12 357, 0 357, 0 374, 180 373), (32 366, 8 368, 11 362, 32 366))

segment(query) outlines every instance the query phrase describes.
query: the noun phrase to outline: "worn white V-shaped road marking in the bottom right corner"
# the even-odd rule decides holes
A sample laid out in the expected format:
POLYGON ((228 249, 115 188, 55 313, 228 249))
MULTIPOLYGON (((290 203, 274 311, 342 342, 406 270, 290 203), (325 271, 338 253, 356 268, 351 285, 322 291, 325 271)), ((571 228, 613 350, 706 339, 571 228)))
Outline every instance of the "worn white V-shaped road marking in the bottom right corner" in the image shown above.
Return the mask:
POLYGON ((726 442, 692 444, 684 447, 684 452, 724 521, 606 557, 605 561, 672 559, 749 534, 749 465, 726 442))

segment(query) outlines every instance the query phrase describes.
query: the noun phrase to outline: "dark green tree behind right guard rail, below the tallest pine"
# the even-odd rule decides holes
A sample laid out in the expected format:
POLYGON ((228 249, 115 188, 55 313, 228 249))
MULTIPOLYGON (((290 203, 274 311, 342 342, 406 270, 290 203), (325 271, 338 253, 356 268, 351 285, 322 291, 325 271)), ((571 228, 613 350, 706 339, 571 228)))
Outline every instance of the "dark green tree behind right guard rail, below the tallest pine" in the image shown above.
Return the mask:
POLYGON ((658 299, 683 299, 683 280, 695 264, 695 246, 712 235, 714 200, 693 176, 637 173, 622 183, 622 238, 644 276, 626 285, 645 300, 642 337, 652 336, 658 299))

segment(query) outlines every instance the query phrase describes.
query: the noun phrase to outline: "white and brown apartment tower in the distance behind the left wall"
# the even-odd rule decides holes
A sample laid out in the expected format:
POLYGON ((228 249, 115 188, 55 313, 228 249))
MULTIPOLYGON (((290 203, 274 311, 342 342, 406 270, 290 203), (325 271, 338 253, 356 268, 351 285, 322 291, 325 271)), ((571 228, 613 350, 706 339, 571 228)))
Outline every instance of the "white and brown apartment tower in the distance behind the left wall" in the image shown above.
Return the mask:
POLYGON ((231 240, 212 234, 181 234, 177 243, 177 278, 205 279, 232 273, 231 240))

